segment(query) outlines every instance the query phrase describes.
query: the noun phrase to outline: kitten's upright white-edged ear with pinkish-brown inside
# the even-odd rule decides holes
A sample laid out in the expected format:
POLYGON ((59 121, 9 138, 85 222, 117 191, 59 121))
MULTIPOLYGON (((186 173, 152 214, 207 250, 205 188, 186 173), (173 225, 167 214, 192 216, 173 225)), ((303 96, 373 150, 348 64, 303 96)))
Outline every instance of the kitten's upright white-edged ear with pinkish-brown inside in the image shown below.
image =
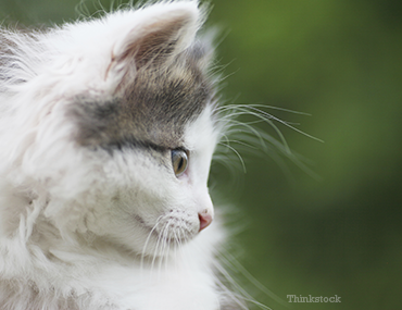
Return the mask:
POLYGON ((196 1, 142 9, 115 42, 106 74, 114 71, 125 78, 145 66, 163 67, 190 46, 200 24, 196 1))

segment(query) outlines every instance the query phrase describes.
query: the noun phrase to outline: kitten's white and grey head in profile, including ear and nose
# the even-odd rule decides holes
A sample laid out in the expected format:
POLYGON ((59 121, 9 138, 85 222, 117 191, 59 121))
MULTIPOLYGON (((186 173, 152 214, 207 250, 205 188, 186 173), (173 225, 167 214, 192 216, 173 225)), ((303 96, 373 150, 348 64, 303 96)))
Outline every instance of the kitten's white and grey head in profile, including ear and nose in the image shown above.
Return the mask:
POLYGON ((22 210, 63 237, 143 255, 211 223, 218 128, 203 18, 197 1, 178 1, 8 35, 2 88, 14 106, 1 126, 13 129, 2 144, 22 210))

